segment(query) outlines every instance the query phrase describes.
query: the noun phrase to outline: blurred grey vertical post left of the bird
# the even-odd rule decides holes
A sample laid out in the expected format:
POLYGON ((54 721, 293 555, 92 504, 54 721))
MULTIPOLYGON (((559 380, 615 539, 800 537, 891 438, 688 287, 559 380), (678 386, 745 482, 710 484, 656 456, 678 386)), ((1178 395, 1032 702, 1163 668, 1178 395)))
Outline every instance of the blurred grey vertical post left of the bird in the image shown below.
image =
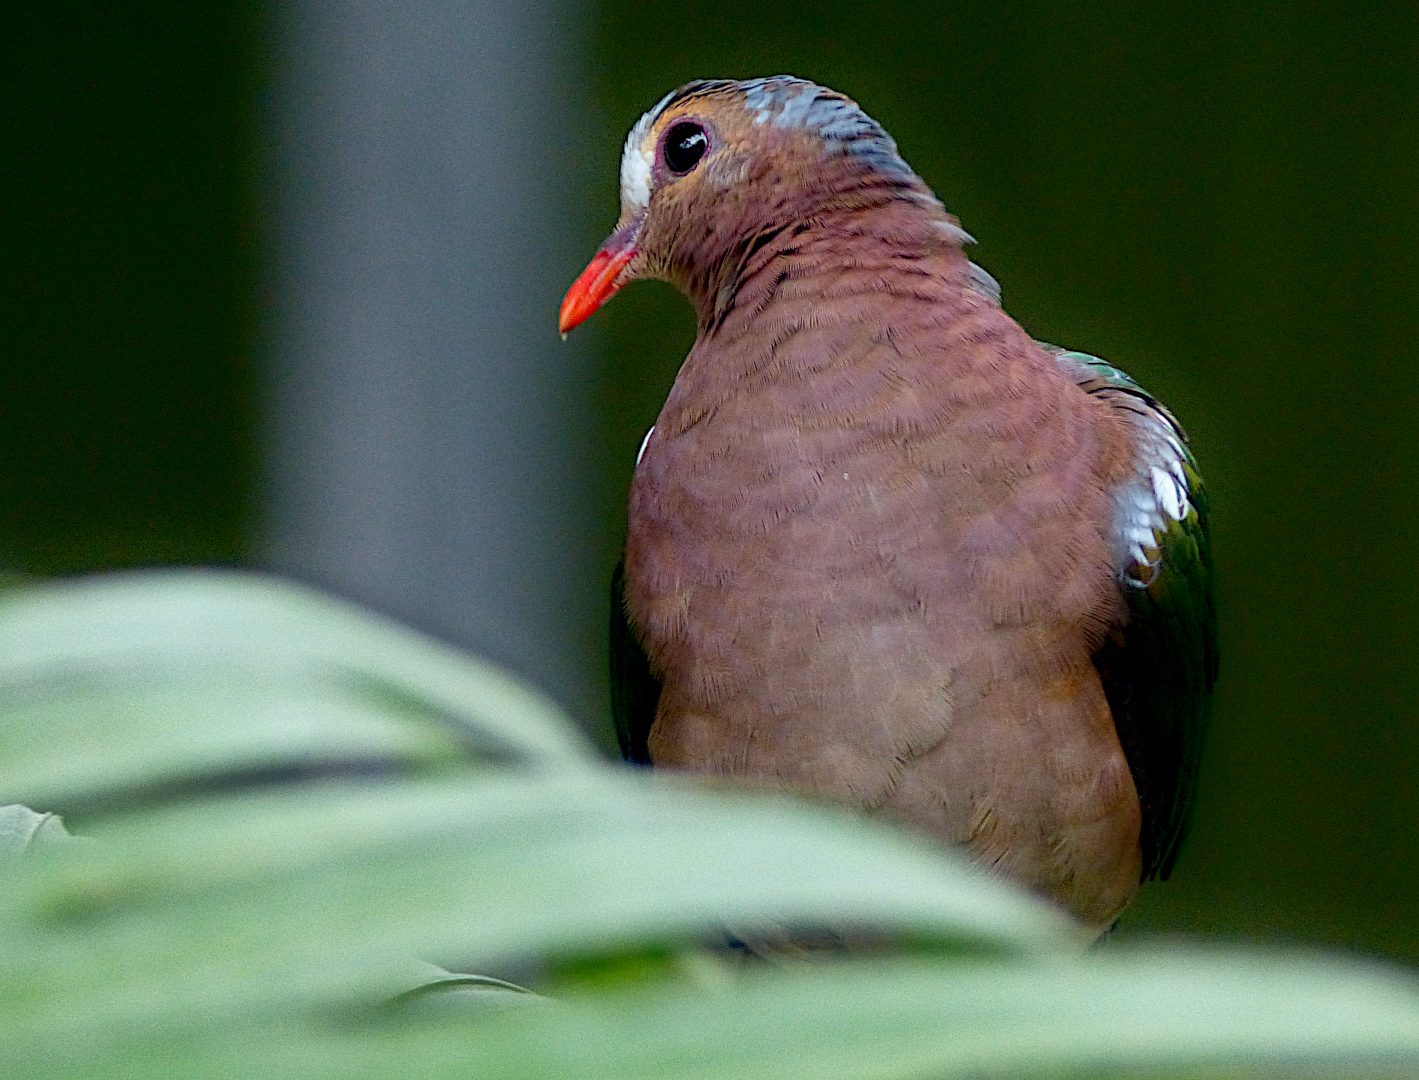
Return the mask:
POLYGON ((579 0, 272 9, 268 565, 600 711, 579 0))

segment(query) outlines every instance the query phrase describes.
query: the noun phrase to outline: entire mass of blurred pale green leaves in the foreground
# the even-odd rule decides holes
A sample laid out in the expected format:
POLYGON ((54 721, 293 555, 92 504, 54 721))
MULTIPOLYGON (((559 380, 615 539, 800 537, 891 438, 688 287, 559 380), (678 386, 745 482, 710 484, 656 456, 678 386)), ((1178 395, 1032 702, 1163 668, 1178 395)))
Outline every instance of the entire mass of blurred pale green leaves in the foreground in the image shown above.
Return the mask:
POLYGON ((40 812, 0 809, 0 1060, 31 1080, 1419 1069, 1409 975, 1081 955, 958 859, 609 766, 502 673, 271 579, 0 597, 11 799, 40 812), (876 944, 722 944, 815 927, 876 944))

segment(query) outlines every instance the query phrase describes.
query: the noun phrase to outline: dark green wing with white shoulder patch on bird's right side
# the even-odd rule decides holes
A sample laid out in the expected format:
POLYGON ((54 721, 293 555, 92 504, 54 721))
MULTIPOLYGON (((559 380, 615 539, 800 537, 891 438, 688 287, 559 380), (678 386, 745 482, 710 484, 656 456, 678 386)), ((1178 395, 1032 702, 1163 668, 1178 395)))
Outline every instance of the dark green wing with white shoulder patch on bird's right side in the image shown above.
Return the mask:
POLYGON ((1185 514, 1159 514, 1124 558, 1120 585, 1128 624, 1094 657, 1114 725, 1142 806, 1144 880, 1166 880, 1188 833, 1198 792, 1202 745, 1218 678, 1216 583, 1208 495, 1172 414, 1138 383, 1094 356, 1050 346, 1077 372, 1080 386, 1125 410, 1138 433, 1139 483, 1154 467, 1181 477, 1185 514))

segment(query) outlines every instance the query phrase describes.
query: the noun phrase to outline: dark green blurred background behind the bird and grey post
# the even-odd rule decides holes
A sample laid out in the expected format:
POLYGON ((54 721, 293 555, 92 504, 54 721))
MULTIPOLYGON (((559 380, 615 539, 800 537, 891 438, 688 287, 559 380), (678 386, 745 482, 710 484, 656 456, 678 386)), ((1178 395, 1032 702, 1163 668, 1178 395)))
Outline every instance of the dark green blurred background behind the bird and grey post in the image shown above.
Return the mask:
MULTIPOLYGON (((895 136, 1027 329, 1189 429, 1219 708, 1189 849, 1122 932, 1419 959, 1419 9, 613 0, 579 24, 596 122, 559 184, 587 257, 661 94, 809 77, 895 136)), ((7 10, 0 563, 258 559, 265 27, 243 4, 7 10)), ((640 285, 582 334, 610 464, 573 542, 609 572, 692 326, 640 285)))

